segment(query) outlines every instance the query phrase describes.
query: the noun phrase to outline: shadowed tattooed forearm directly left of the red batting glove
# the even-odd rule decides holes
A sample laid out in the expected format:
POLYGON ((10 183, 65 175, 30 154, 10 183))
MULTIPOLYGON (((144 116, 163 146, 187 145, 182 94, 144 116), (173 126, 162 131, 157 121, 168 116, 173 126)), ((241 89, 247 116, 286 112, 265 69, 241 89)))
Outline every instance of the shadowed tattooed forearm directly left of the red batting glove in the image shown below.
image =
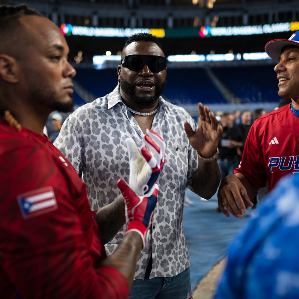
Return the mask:
POLYGON ((113 203, 99 209, 95 221, 104 240, 111 240, 125 223, 124 198, 117 197, 113 203))

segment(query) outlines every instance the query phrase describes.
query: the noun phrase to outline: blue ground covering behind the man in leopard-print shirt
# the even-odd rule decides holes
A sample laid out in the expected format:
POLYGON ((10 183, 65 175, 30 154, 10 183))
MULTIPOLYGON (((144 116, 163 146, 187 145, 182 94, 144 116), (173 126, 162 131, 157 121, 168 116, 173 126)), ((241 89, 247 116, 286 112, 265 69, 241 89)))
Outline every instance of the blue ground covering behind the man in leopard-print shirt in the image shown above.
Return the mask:
POLYGON ((185 206, 183 214, 184 235, 191 260, 191 287, 194 290, 209 270, 225 257, 227 246, 250 218, 251 208, 242 219, 232 215, 226 218, 216 211, 216 195, 208 201, 200 200, 190 190, 186 191, 186 195, 194 203, 193 206, 185 206))

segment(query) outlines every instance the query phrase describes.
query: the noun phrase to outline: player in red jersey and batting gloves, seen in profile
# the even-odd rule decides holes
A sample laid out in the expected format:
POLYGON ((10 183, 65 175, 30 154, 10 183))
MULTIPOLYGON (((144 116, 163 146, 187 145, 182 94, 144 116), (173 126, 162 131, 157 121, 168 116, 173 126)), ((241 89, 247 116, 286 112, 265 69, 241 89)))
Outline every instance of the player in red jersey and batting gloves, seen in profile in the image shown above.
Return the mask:
POLYGON ((117 178, 122 195, 91 211, 84 183, 43 134, 49 113, 74 107, 63 34, 25 4, 0 5, 0 39, 0 297, 127 298, 157 201, 160 131, 144 136, 151 153, 126 139, 130 186, 117 178), (107 257, 103 244, 124 223, 107 257))

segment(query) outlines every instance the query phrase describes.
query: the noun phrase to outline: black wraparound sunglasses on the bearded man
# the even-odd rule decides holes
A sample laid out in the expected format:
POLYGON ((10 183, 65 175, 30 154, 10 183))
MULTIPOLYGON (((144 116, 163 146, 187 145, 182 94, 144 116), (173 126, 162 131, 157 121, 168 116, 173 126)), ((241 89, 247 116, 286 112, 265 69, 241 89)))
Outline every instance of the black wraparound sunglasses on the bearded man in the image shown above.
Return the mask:
POLYGON ((166 61, 165 57, 157 55, 128 55, 121 59, 121 66, 139 72, 147 64, 152 72, 157 73, 166 69, 166 61))

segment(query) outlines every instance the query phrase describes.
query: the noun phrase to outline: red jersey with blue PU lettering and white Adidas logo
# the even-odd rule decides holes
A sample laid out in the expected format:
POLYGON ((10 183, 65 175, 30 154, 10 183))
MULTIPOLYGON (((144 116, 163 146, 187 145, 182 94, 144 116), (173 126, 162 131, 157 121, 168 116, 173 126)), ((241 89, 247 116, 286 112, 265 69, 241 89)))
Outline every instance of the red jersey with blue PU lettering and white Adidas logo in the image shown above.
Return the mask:
POLYGON ((269 182, 272 190, 281 177, 299 171, 299 117, 290 105, 258 118, 250 128, 242 160, 236 172, 245 175, 252 186, 269 182))

